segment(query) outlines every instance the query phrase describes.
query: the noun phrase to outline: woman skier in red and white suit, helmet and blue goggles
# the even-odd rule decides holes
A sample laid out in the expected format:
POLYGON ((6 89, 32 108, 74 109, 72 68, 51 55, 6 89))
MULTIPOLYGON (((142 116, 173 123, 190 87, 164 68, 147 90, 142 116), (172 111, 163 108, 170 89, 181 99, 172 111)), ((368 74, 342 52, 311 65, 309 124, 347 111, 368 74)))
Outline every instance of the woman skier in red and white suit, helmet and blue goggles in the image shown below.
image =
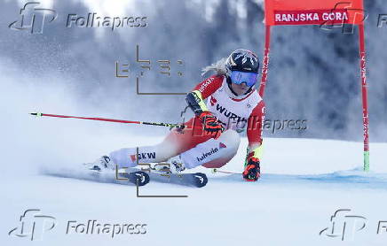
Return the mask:
POLYGON ((243 178, 257 181, 262 157, 262 125, 265 103, 258 95, 259 62, 250 50, 234 50, 227 59, 203 69, 215 75, 201 81, 186 95, 194 118, 185 128, 173 128, 165 139, 153 146, 115 150, 88 168, 103 170, 160 163, 168 160, 170 172, 178 173, 198 165, 221 167, 236 154, 241 131, 247 127, 249 146, 244 160, 243 178), (204 102, 207 99, 207 103, 204 102))

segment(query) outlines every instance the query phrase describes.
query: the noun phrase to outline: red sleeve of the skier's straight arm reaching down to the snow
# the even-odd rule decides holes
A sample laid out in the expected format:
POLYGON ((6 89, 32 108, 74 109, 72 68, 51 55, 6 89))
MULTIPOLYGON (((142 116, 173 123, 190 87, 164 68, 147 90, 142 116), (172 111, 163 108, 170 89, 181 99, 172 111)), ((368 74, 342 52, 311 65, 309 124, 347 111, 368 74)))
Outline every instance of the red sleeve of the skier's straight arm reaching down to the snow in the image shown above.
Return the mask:
POLYGON ((260 142, 262 144, 262 128, 265 120, 265 102, 262 100, 257 104, 249 116, 248 140, 249 144, 260 142))

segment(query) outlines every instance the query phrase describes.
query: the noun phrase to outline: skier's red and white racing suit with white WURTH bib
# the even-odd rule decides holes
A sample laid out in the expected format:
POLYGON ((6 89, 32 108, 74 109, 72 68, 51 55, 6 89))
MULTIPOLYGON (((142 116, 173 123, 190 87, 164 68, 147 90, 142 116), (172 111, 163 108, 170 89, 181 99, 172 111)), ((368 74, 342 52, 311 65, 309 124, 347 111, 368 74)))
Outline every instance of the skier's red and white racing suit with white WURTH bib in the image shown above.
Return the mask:
POLYGON ((245 162, 251 157, 261 159, 265 103, 255 88, 247 95, 235 96, 226 80, 225 75, 211 76, 196 85, 186 97, 195 111, 210 111, 217 117, 217 122, 225 127, 220 136, 203 134, 201 120, 195 112, 196 116, 184 123, 183 130, 173 128, 161 143, 138 147, 137 157, 137 148, 115 150, 109 157, 119 167, 158 163, 178 155, 186 168, 220 167, 235 156, 241 141, 239 133, 247 127, 249 146, 245 162))

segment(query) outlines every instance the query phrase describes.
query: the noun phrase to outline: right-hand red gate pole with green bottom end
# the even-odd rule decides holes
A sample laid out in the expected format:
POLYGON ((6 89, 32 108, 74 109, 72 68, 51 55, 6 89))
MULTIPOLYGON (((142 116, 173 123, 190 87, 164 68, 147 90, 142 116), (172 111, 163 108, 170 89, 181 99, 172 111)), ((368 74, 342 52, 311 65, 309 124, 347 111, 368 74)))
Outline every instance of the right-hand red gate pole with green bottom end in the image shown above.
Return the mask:
POLYGON ((361 74, 361 96, 363 102, 363 137, 364 137, 364 171, 369 171, 369 142, 368 142, 368 103, 367 103, 367 69, 366 48, 364 39, 364 25, 359 24, 359 55, 361 74))

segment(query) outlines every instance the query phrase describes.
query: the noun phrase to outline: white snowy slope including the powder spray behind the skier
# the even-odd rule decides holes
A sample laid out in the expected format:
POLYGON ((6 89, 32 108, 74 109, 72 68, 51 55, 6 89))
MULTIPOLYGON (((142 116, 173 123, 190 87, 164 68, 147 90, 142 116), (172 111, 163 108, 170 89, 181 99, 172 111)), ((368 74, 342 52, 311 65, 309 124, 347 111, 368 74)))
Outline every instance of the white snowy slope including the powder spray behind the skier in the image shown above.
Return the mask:
MULTIPOLYGON (((28 83, 31 80, 28 77, 19 86, 7 74, 4 73, 4 81, 0 83, 1 91, 5 92, 0 97, 3 105, 0 108, 1 245, 385 245, 387 242, 387 233, 376 234, 379 220, 387 220, 384 204, 387 143, 372 142, 372 135, 371 172, 367 174, 357 170, 362 165, 362 142, 265 137, 263 175, 258 182, 209 173, 205 188, 151 182, 139 190, 140 195, 186 195, 187 198, 138 198, 133 186, 63 179, 39 171, 42 167, 74 169, 111 150, 160 142, 162 136, 138 136, 153 131, 154 127, 36 119, 28 112, 119 118, 115 106, 121 102, 104 101, 106 107, 93 107, 71 98, 73 91, 65 86, 38 86, 28 83), (40 209, 43 215, 55 217, 56 226, 43 234, 42 241, 8 235, 13 228, 20 227, 20 216, 28 209, 40 209), (353 241, 342 242, 338 237, 320 235, 320 231, 331 225, 330 218, 339 209, 351 209, 349 215, 367 219, 366 227, 354 234, 353 241), (90 219, 101 224, 146 224, 146 234, 118 234, 114 238, 110 234, 74 234, 72 230, 66 234, 69 220, 84 224, 90 219)), ((158 115, 154 118, 157 120, 158 115)), ((128 119, 141 116, 133 114, 128 119)), ((247 140, 242 139, 237 156, 225 166, 226 170, 241 171, 246 144, 247 140)), ((355 226, 357 229, 361 224, 355 226)))

